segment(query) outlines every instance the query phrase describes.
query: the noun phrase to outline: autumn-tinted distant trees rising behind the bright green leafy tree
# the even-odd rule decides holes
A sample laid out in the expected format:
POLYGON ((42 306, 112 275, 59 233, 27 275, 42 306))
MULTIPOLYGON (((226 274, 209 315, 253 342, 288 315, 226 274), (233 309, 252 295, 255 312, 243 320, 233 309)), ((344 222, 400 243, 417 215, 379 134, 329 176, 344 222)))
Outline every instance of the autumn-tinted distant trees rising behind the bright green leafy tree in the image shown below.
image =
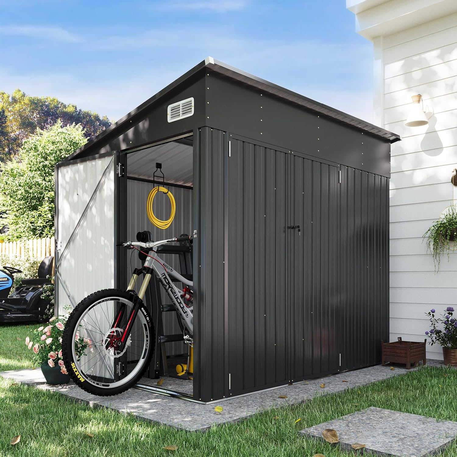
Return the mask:
MULTIPOLYGON (((0 111, 6 115, 6 139, 1 141, 0 160, 15 156, 22 142, 35 133, 37 128, 47 129, 58 120, 63 126, 81 124, 87 139, 94 138, 111 125, 106 117, 97 113, 78 109, 76 105, 59 101, 53 97, 32 97, 19 89, 11 95, 0 91, 0 111)), ((1 122, 1 120, 0 120, 1 122)))

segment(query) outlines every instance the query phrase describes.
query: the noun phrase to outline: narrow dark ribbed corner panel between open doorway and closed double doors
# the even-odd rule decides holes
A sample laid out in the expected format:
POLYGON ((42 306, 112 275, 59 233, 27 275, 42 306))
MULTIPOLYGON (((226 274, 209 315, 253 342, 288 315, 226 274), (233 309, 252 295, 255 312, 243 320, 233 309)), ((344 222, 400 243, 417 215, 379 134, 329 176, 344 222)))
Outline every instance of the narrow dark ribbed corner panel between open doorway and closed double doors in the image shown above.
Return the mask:
POLYGON ((199 188, 199 270, 194 273, 194 398, 220 399, 228 385, 224 363, 226 307, 224 303, 224 159, 228 144, 222 131, 202 128, 197 161, 199 188))

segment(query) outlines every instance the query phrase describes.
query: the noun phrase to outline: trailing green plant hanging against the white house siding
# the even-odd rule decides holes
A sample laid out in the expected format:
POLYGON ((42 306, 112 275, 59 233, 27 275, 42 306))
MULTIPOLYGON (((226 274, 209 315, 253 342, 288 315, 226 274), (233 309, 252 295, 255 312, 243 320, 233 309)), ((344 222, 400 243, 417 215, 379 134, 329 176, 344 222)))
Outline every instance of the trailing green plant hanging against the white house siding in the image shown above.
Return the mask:
POLYGON ((427 252, 430 251, 435 264, 435 273, 440 270, 441 255, 447 255, 456 250, 456 245, 451 241, 457 241, 457 207, 451 205, 449 211, 435 221, 422 235, 426 239, 427 252))

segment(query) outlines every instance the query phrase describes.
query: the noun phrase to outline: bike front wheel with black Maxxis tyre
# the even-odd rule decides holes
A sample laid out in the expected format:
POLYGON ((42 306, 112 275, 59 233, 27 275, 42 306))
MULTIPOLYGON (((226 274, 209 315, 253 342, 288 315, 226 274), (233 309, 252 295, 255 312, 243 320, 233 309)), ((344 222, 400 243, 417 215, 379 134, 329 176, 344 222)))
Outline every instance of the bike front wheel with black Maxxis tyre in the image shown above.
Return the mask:
POLYGON ((142 377, 155 341, 154 324, 142 302, 123 350, 110 344, 123 334, 132 310, 132 294, 118 289, 92 293, 74 308, 62 335, 62 355, 80 388, 95 395, 116 395, 142 377), (121 308, 124 311, 115 320, 121 308))

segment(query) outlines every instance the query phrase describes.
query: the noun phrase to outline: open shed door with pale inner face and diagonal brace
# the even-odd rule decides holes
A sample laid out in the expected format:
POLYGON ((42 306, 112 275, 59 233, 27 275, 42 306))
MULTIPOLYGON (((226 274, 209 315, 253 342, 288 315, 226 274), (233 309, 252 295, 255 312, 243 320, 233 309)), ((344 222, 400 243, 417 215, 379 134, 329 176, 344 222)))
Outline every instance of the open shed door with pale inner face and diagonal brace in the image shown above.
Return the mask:
POLYGON ((56 312, 114 287, 116 154, 56 167, 56 312))

